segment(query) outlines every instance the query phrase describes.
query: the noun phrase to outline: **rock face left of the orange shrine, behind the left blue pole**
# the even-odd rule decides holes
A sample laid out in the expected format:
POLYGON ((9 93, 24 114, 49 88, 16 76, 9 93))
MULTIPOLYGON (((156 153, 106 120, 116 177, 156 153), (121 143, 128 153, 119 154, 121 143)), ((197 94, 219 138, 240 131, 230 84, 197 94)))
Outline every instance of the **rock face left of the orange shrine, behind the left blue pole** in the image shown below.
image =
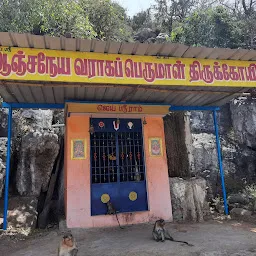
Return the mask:
MULTIPOLYGON (((7 114, 8 111, 0 110, 0 198, 5 177, 7 114)), ((44 192, 48 190, 59 153, 59 137, 64 130, 54 129, 52 123, 63 123, 63 118, 61 111, 56 112, 54 120, 51 110, 13 111, 8 216, 12 227, 33 229, 37 225, 38 211, 44 205, 44 192)), ((0 200, 1 208, 2 204, 3 200, 0 200)))

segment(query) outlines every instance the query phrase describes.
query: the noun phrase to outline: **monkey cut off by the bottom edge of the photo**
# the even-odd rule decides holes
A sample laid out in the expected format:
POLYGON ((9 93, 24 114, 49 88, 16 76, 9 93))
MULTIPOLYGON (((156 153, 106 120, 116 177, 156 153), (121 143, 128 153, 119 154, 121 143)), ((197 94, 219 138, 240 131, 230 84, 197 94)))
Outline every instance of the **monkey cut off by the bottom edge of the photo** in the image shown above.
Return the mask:
POLYGON ((72 234, 64 235, 58 248, 58 256, 77 256, 77 253, 77 244, 72 234))

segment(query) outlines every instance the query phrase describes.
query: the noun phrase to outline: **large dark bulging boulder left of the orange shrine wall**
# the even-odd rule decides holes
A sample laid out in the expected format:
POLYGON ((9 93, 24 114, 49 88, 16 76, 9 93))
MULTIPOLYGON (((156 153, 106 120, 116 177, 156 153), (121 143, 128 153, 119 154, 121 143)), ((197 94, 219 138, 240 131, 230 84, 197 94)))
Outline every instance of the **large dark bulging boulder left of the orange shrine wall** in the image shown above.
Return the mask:
POLYGON ((56 134, 36 131, 22 138, 16 174, 20 195, 39 196, 47 191, 58 152, 56 134))

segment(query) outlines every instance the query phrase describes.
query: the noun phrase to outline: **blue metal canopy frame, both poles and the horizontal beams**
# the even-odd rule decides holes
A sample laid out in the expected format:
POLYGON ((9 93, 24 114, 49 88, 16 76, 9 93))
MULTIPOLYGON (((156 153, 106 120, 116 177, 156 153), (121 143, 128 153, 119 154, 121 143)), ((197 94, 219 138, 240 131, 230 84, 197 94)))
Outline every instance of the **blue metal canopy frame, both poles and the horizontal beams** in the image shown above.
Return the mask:
MULTIPOLYGON (((87 102, 84 102, 87 103, 87 102)), ((95 102, 90 102, 95 103, 95 102)), ((113 104, 113 102, 111 102, 113 104)), ((126 103, 131 104, 131 103, 126 103)), ((132 103, 134 104, 134 102, 132 103)), ((143 105, 143 103, 138 102, 137 104, 143 105)), ((149 105, 150 103, 147 103, 149 105)), ((155 103, 152 103, 155 105, 155 103)), ((161 105, 161 104, 157 104, 161 105)), ((164 104, 166 105, 166 104, 164 104)), ((5 189, 4 189, 4 220, 3 220, 3 230, 7 230, 7 217, 8 217, 8 192, 9 192, 9 177, 10 177, 10 162, 11 162, 11 138, 12 138, 12 110, 15 108, 18 109, 64 109, 65 104, 34 104, 34 103, 6 103, 3 102, 0 106, 2 108, 8 108, 8 141, 7 141, 7 156, 6 156, 6 174, 5 174, 5 189)), ((221 186, 224 199, 224 210, 225 214, 228 215, 228 205, 227 205, 227 195, 224 179, 224 170, 222 165, 222 156, 221 156, 221 145, 218 131, 218 122, 217 122, 217 111, 219 107, 203 107, 203 106, 171 106, 169 111, 212 111, 215 136, 216 136, 216 148, 218 155, 218 164, 221 176, 221 186)))

